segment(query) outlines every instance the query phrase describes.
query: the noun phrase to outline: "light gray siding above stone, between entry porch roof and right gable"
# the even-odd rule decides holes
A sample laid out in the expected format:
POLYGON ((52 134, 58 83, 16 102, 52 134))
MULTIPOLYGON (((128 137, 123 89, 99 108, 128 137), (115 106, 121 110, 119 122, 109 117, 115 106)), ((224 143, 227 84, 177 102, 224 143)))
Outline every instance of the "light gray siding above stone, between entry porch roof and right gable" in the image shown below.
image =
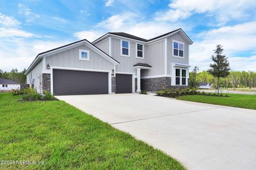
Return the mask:
POLYGON ((142 71, 141 76, 164 74, 164 40, 147 45, 144 61, 152 66, 149 71, 142 71))

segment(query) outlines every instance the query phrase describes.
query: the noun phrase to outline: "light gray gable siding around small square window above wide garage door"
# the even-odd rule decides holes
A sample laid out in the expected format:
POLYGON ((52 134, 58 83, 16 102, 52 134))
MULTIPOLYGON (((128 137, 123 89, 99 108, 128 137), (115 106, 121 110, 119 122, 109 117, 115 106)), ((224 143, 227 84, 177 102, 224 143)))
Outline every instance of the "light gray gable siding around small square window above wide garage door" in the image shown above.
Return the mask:
POLYGON ((72 67, 77 69, 112 70, 114 64, 96 53, 86 45, 80 45, 72 49, 46 57, 46 65, 55 67, 72 67), (79 49, 89 50, 90 61, 79 59, 79 49))

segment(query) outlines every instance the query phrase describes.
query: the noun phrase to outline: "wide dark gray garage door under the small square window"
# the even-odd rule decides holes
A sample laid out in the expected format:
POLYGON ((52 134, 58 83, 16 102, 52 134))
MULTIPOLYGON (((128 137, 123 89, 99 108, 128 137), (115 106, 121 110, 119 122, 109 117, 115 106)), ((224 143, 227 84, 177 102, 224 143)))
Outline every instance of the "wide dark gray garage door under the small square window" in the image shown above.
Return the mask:
POLYGON ((108 77, 102 72, 53 69, 53 94, 109 94, 108 77))

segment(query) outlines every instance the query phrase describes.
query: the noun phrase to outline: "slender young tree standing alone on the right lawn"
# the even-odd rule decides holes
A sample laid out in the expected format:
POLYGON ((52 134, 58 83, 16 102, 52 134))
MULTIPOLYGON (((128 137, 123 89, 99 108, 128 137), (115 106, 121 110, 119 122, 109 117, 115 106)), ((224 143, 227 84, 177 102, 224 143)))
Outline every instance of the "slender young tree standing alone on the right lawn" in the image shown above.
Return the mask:
POLYGON ((225 78, 229 75, 230 67, 228 58, 223 53, 222 45, 216 45, 214 49, 214 54, 212 55, 213 63, 210 64, 210 69, 208 70, 210 74, 217 78, 217 92, 219 94, 220 90, 220 78, 225 78))

